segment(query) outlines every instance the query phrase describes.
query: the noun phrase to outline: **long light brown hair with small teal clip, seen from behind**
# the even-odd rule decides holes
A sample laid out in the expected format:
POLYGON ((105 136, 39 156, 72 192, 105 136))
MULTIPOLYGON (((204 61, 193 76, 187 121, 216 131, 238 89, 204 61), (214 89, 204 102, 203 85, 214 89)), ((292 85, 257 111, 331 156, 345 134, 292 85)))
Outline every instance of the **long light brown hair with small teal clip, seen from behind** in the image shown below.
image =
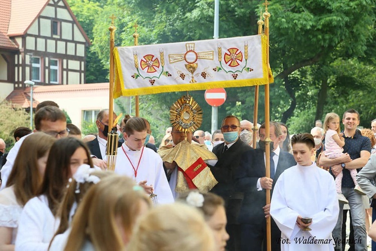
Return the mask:
POLYGON ((95 250, 123 250, 123 242, 116 223, 121 219, 124 232, 131 234, 140 201, 148 206, 151 200, 143 189, 128 177, 111 175, 91 186, 77 208, 64 250, 81 250, 89 240, 95 250))

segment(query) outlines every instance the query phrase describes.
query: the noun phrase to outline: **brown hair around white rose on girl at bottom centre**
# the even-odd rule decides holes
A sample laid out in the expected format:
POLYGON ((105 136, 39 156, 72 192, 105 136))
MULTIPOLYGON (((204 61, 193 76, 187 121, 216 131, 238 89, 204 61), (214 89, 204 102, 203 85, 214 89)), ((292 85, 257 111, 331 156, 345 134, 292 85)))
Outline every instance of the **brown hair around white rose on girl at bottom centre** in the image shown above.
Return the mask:
MULTIPOLYGON (((179 196, 179 200, 185 204, 191 205, 187 201, 187 197, 190 193, 197 192, 200 193, 198 190, 191 190, 188 193, 181 194, 179 196)), ((204 213, 205 220, 210 220, 210 218, 216 213, 218 207, 225 206, 225 201, 221 196, 218 196, 217 194, 208 192, 208 193, 200 193, 204 197, 203 206, 197 207, 204 213)), ((192 206, 192 205, 191 205, 192 206)))

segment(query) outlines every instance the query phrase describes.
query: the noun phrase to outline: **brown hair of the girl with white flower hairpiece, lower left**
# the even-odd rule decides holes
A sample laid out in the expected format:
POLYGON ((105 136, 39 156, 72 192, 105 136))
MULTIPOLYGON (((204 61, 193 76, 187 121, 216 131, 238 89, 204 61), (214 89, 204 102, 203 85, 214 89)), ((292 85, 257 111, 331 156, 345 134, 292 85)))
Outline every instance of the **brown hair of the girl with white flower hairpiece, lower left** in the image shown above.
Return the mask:
MULTIPOLYGON (((108 177, 108 176, 111 176, 111 175, 116 175, 116 174, 114 172, 111 172, 111 171, 107 171, 107 172, 94 171, 94 172, 90 173, 90 176, 92 176, 92 175, 98 177, 99 179, 103 179, 105 177, 108 177)), ((68 187, 67 191, 65 192, 63 200, 62 200, 61 204, 59 205, 59 208, 58 208, 58 211, 57 211, 57 217, 60 218, 60 224, 59 224, 59 227, 58 227, 57 231, 55 232, 55 235, 52 238, 50 244, 52 243, 52 241, 54 240, 56 235, 61 234, 68 229, 69 218, 70 218, 70 213, 71 213, 73 204, 77 203, 77 206, 78 206, 79 203, 81 202, 81 200, 83 199, 84 195, 86 194, 86 192, 93 185, 94 185, 93 182, 77 183, 77 181, 75 179, 73 179, 72 182, 69 183, 69 187, 68 187), (77 184, 78 184, 78 188, 79 188, 78 190, 76 189, 77 184), (76 192, 76 190, 79 191, 79 192, 76 192)))

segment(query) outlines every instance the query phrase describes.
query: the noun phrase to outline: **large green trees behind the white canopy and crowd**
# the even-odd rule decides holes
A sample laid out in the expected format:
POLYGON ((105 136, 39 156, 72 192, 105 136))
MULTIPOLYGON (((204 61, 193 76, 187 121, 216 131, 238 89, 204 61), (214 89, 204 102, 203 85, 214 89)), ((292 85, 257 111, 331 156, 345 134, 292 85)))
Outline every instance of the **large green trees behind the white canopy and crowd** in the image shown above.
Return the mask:
MULTIPOLYGON (((257 33, 263 1, 220 1, 220 37, 257 33)), ((69 0, 92 46, 87 82, 108 77, 110 17, 115 20, 116 46, 132 46, 134 24, 139 44, 212 39, 213 0, 69 0)), ((360 112, 361 125, 376 117, 376 9, 370 0, 274 0, 270 2, 270 118, 286 122, 292 133, 309 132, 316 117, 360 112), (316 108, 317 107, 317 108, 316 108)), ((236 114, 253 120, 255 87, 227 88, 219 121, 236 114)), ((264 86, 259 88, 258 121, 264 121, 264 86)), ((140 115, 150 121, 156 140, 168 126, 169 106, 185 92, 140 96, 140 115)), ((190 94, 204 111, 202 129, 211 129, 211 107, 204 91, 190 94)), ((133 100, 134 101, 134 100, 133 100)), ((134 107, 134 106, 133 106, 134 107)))

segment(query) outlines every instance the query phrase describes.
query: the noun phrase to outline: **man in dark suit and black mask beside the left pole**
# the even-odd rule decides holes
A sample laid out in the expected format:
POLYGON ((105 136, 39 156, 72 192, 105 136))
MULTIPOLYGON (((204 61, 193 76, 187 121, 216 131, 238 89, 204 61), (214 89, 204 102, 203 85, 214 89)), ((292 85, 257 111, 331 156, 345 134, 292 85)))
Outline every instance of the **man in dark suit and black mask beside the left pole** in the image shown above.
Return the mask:
MULTIPOLYGON (((115 121, 116 114, 113 114, 113 120, 115 121)), ((95 121, 98 128, 98 136, 87 142, 87 146, 92 155, 92 160, 94 165, 101 168, 106 168, 107 156, 106 156, 106 147, 107 147, 107 136, 108 136, 108 122, 109 122, 109 113, 108 109, 99 111, 97 115, 97 120, 95 121)))

